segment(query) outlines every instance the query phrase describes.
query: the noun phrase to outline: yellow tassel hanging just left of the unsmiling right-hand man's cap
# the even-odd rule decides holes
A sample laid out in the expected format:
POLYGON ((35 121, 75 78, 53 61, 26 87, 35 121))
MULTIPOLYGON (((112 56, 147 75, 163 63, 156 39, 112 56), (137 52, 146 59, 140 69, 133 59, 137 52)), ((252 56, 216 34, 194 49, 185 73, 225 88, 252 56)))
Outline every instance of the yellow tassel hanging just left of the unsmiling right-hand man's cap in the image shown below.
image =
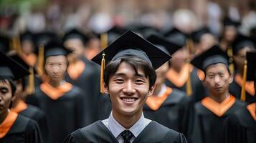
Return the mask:
MULTIPOLYGON (((187 49, 189 49, 189 58, 188 60, 186 61, 186 64, 189 68, 189 64, 190 64, 190 59, 191 59, 191 55, 195 53, 195 48, 194 48, 194 42, 192 41, 192 39, 187 39, 186 40, 186 47, 187 49)), ((190 68, 189 68, 189 77, 188 77, 188 80, 186 81, 186 94, 188 96, 191 96, 193 94, 193 91, 192 91, 192 85, 191 85, 191 73, 190 73, 190 68)))

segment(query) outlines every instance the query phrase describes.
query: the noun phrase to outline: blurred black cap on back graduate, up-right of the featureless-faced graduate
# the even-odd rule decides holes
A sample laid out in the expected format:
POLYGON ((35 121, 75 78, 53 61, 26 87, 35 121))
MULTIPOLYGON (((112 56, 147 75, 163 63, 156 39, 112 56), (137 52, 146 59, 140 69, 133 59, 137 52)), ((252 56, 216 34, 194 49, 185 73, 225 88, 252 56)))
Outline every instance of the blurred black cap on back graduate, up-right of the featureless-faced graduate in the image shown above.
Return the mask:
POLYGON ((86 36, 81 30, 79 29, 70 29, 69 31, 65 32, 65 35, 62 38, 62 41, 65 42, 68 39, 80 39, 84 44, 90 40, 90 36, 86 36))

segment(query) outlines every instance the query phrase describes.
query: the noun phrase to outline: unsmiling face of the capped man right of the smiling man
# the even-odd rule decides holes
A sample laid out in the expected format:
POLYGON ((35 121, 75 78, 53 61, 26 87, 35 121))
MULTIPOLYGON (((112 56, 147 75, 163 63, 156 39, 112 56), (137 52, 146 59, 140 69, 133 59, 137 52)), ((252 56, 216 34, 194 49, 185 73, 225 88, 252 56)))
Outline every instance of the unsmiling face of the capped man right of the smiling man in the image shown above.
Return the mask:
POLYGON ((231 82, 232 75, 224 64, 212 64, 207 67, 204 85, 209 89, 210 94, 224 94, 228 91, 231 82))

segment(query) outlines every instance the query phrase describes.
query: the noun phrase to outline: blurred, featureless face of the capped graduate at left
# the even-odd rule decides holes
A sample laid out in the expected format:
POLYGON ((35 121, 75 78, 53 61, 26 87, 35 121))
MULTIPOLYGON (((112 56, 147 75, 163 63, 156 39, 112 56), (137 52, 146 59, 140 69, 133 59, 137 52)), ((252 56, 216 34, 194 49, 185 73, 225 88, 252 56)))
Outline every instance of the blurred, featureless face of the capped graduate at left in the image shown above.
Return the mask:
POLYGON ((67 58, 66 56, 49 56, 45 61, 44 66, 49 79, 52 81, 61 81, 65 76, 67 69, 67 58))

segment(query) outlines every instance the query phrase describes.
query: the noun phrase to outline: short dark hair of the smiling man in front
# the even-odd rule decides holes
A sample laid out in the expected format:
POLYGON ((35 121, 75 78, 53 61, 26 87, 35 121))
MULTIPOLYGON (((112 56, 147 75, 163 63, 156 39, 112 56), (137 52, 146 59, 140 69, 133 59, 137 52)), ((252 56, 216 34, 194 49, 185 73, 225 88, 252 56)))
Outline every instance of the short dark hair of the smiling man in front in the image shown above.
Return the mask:
POLYGON ((118 67, 122 62, 130 64, 133 67, 136 74, 138 74, 138 68, 143 69, 145 76, 149 79, 149 88, 151 88, 153 84, 155 84, 156 71, 155 69, 153 69, 153 67, 148 61, 146 61, 145 59, 141 59, 139 57, 120 57, 118 59, 110 61, 107 64, 107 66, 105 66, 104 82, 107 85, 107 87, 110 76, 115 74, 115 72, 118 70, 118 67))

